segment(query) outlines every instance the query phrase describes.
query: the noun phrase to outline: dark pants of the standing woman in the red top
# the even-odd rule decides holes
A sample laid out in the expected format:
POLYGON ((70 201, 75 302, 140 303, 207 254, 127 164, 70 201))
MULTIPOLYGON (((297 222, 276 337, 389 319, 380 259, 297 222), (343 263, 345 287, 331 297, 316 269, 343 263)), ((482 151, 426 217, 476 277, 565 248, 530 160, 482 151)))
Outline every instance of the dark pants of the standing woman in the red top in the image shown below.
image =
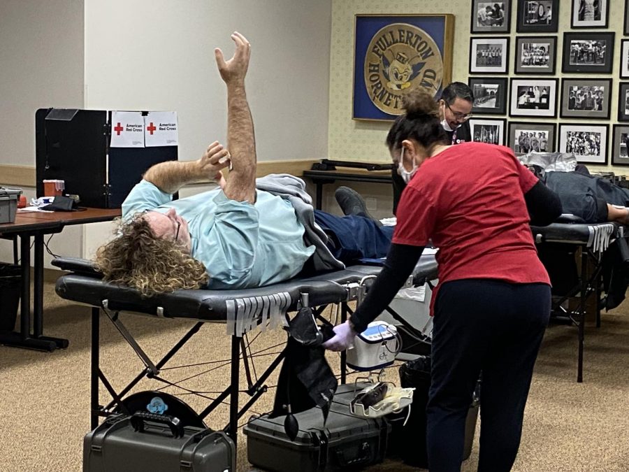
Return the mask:
POLYGON ((550 287, 541 283, 474 279, 440 287, 426 410, 431 472, 461 469, 465 416, 481 371, 478 470, 511 469, 550 307, 550 287))

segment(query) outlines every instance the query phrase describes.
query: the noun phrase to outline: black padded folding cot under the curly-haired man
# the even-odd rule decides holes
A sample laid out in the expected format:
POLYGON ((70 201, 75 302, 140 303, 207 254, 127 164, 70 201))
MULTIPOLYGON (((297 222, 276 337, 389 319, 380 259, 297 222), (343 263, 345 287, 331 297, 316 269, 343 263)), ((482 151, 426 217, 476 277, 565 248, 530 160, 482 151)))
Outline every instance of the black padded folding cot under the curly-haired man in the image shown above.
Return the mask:
MULTIPOLYGON (((282 350, 273 359, 266 371, 257 380, 252 378, 250 354, 245 343, 247 334, 255 328, 277 327, 287 320, 287 314, 303 307, 313 308, 315 316, 333 304, 340 306, 340 320, 345 321, 348 313, 352 313, 348 303, 360 303, 366 294, 367 281, 377 276, 381 266, 356 265, 348 266, 342 271, 321 273, 305 278, 293 278, 282 283, 267 287, 239 290, 177 290, 168 294, 159 294, 151 298, 143 298, 139 292, 129 287, 113 285, 101 280, 101 274, 94 270, 92 262, 85 259, 62 257, 55 259, 53 264, 68 273, 59 277, 55 289, 64 299, 86 303, 92 306, 92 340, 91 340, 91 427, 99 424, 99 417, 107 417, 122 410, 124 397, 129 394, 143 378, 163 380, 159 373, 165 365, 194 336, 204 323, 226 324, 226 334, 231 338, 230 380, 223 392, 212 399, 210 404, 198 417, 203 420, 229 397, 229 424, 224 427, 236 443, 238 419, 244 415, 253 403, 266 391, 264 384, 270 373, 280 365, 285 355, 282 350), (185 318, 192 320, 194 325, 173 345, 164 357, 153 362, 147 353, 126 329, 119 314, 135 313, 157 318, 185 318), (101 313, 105 315, 120 334, 131 345, 133 351, 144 364, 140 371, 126 387, 116 391, 101 370, 99 354, 101 352, 99 323, 101 313), (247 377, 245 392, 250 399, 242 407, 238 407, 240 360, 243 361, 247 377), (111 401, 105 406, 99 404, 100 385, 103 385, 111 401)), ((424 285, 426 281, 437 276, 437 263, 434 255, 422 255, 413 275, 407 280, 407 287, 424 285)), ((157 321, 157 320, 156 320, 157 321)), ((345 383, 345 352, 341 354, 341 383, 345 383)), ((168 385, 170 384, 169 382, 168 385)), ((189 392, 185 392, 189 393, 189 392)), ((207 398, 207 397, 205 397, 207 398)))

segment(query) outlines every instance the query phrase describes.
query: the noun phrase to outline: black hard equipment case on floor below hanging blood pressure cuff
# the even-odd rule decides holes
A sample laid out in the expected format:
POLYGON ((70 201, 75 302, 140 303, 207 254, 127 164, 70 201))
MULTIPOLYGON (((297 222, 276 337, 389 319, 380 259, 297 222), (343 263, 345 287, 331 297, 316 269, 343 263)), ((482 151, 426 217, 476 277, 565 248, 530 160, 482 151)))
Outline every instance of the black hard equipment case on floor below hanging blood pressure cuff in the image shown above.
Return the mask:
MULTIPOLYGON (((362 388, 357 387, 356 393, 362 388)), ((295 413, 298 434, 291 441, 285 416, 255 417, 245 425, 247 459, 275 472, 346 471, 382 462, 391 426, 384 419, 349 413, 354 384, 339 385, 324 424, 321 408, 295 413)))

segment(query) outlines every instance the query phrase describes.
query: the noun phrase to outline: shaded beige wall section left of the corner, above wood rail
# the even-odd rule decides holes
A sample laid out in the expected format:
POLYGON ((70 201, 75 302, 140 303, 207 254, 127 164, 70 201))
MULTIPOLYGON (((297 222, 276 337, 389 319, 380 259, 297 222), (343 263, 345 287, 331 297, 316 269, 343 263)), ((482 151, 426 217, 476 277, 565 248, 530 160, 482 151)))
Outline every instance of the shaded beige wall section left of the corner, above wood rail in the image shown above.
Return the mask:
POLYGON ((1 0, 0 45, 0 165, 34 166, 35 111, 83 105, 83 1, 1 0))

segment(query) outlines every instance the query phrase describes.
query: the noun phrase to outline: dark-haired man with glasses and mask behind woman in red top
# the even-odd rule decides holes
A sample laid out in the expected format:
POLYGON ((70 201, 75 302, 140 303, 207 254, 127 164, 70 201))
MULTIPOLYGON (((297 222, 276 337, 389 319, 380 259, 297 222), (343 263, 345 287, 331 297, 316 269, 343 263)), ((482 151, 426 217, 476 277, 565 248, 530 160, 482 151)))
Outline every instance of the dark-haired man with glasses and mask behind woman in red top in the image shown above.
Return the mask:
MULTIPOLYGON (((472 89, 462 82, 451 83, 441 93, 438 101, 439 120, 449 144, 472 141, 468 120, 472 117, 473 101, 472 89)), ((395 215, 406 183, 403 176, 400 176, 398 166, 393 166, 391 169, 391 178, 393 180, 393 215, 395 215)))

